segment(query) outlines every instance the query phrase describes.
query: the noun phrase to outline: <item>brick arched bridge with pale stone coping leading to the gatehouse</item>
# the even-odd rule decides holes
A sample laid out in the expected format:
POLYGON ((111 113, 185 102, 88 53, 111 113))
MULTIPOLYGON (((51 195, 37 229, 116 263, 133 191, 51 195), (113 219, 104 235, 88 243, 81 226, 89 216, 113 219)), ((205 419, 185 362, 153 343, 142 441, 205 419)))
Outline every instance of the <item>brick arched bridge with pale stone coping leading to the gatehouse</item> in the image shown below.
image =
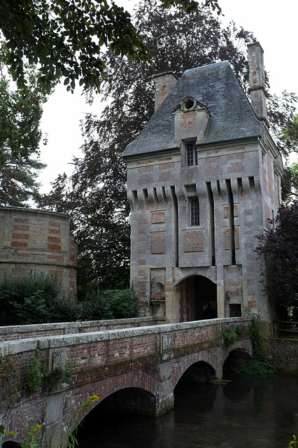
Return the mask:
POLYGON ((221 378, 229 352, 251 354, 249 323, 248 318, 217 318, 155 325, 152 318, 137 318, 2 327, 0 424, 22 434, 22 422, 41 423, 43 447, 54 448, 71 409, 88 395, 109 400, 110 407, 123 408, 125 402, 130 412, 162 414, 173 407, 174 388, 186 371, 195 372, 197 365, 221 378), (225 346, 222 332, 237 325, 241 337, 225 346), (44 384, 30 392, 24 384, 37 344, 44 384), (68 370, 69 384, 59 381, 63 370, 68 370), (121 395, 125 390, 129 400, 121 395))

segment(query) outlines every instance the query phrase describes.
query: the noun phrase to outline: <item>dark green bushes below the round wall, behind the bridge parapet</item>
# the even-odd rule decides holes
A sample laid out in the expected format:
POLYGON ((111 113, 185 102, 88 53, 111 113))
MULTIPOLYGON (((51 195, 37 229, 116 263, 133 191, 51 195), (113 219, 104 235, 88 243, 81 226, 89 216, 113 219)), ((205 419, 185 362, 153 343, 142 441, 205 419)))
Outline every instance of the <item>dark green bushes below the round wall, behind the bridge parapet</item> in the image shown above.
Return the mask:
POLYGON ((55 276, 31 272, 16 278, 6 275, 0 283, 0 325, 92 321, 137 316, 130 290, 92 290, 82 302, 64 294, 55 276))

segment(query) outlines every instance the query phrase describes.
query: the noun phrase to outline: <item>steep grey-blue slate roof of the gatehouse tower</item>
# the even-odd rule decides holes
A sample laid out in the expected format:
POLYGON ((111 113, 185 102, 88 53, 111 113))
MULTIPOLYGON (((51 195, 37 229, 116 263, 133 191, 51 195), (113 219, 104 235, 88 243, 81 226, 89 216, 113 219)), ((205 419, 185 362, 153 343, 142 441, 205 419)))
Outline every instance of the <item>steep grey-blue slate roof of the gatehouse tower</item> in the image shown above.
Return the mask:
POLYGON ((211 113, 200 145, 262 135, 262 123, 257 120, 229 62, 224 61, 185 71, 148 125, 127 145, 123 156, 177 148, 173 111, 185 97, 194 97, 211 113))

